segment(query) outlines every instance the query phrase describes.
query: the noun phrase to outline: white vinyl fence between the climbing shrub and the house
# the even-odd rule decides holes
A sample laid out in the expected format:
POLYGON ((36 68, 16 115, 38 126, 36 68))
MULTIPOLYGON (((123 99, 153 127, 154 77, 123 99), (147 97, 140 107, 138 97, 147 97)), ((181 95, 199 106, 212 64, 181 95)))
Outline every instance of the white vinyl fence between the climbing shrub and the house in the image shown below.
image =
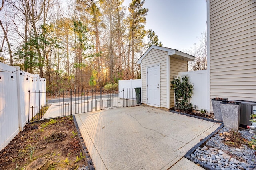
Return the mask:
POLYGON ((179 72, 179 76, 188 76, 189 82, 194 84, 193 94, 190 98, 190 103, 196 105, 196 109, 208 108, 208 96, 207 96, 207 70, 179 72))

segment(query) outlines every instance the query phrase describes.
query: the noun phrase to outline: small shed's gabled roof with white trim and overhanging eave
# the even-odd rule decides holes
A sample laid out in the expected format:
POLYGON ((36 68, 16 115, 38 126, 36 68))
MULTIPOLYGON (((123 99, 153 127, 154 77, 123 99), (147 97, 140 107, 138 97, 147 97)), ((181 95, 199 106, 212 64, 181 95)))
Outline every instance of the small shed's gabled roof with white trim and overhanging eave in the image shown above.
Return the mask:
POLYGON ((160 47, 157 45, 151 45, 147 51, 140 57, 140 59, 138 59, 137 64, 140 64, 141 61, 144 59, 144 57, 146 57, 146 55, 152 50, 152 49, 158 49, 158 50, 162 50, 162 51, 166 51, 168 52, 168 55, 177 59, 181 59, 184 61, 193 61, 195 60, 196 57, 189 55, 187 53, 183 53, 181 51, 178 51, 176 49, 171 49, 171 48, 167 48, 167 47, 160 47))

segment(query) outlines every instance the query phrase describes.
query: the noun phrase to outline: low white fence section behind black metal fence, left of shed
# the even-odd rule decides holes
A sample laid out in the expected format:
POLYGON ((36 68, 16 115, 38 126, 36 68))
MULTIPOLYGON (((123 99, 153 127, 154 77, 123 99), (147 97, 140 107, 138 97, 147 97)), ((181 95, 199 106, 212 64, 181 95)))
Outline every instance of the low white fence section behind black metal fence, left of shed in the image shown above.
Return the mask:
MULTIPOLYGON (((136 87, 142 87, 142 81, 141 79, 130 79, 130 80, 118 80, 118 90, 119 92, 122 91, 123 89, 134 89, 136 87)), ((125 95, 127 96, 127 95, 125 95)), ((136 93, 135 91, 131 94, 131 96, 127 96, 126 99, 129 98, 136 98, 136 93)), ((119 97, 123 98, 123 93, 119 93, 119 97)))

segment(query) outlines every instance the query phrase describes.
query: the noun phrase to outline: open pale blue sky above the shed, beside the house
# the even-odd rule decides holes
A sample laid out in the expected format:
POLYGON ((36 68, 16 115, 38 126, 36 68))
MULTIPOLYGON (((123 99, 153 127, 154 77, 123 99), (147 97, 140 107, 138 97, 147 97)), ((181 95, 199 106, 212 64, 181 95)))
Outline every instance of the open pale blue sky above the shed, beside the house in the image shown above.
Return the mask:
POLYGON ((206 0, 145 0, 143 7, 149 10, 145 28, 152 29, 164 47, 188 50, 206 31, 206 0))

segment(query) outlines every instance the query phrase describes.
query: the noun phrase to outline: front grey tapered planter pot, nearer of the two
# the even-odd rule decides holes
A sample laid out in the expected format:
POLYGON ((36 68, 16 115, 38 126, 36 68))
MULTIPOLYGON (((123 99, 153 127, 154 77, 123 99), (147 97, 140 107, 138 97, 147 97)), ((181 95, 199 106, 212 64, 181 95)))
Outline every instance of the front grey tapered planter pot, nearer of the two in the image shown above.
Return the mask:
POLYGON ((240 108, 241 102, 228 103, 228 101, 220 102, 220 109, 222 113, 222 119, 224 127, 234 129, 239 128, 240 123, 240 108))

